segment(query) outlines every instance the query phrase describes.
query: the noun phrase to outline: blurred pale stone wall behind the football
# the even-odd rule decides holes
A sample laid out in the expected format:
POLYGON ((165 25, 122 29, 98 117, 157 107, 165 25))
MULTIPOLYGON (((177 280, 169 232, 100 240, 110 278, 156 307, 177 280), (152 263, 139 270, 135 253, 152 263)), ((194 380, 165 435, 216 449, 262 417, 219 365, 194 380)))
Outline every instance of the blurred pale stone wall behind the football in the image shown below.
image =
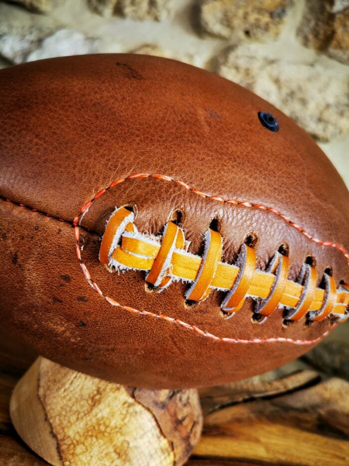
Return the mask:
POLYGON ((349 185, 349 0, 0 0, 0 67, 95 52, 238 82, 305 128, 349 185))

